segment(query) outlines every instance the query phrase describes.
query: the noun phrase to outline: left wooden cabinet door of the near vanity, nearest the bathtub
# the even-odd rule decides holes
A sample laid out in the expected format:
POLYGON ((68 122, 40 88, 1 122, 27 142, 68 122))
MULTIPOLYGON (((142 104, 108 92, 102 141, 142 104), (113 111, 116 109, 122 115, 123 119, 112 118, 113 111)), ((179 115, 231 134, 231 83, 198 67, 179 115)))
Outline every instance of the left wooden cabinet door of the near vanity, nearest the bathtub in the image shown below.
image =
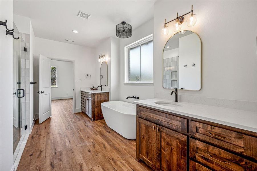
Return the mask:
POLYGON ((137 160, 156 168, 156 124, 137 117, 137 160))

